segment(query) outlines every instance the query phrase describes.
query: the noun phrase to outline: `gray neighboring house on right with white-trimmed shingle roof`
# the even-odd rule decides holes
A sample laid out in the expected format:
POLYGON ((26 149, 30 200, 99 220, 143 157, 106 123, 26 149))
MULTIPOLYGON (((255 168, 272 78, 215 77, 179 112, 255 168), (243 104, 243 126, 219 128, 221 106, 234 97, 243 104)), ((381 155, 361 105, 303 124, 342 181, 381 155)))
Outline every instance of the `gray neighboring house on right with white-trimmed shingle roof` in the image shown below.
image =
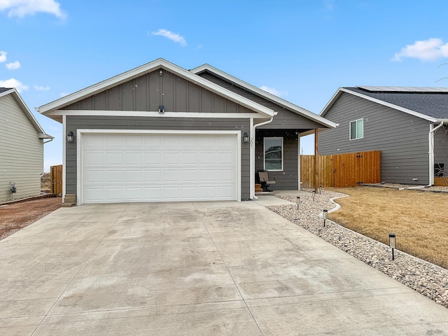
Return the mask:
POLYGON ((381 151, 381 181, 433 185, 448 175, 448 88, 341 87, 320 116, 320 155, 381 151))

